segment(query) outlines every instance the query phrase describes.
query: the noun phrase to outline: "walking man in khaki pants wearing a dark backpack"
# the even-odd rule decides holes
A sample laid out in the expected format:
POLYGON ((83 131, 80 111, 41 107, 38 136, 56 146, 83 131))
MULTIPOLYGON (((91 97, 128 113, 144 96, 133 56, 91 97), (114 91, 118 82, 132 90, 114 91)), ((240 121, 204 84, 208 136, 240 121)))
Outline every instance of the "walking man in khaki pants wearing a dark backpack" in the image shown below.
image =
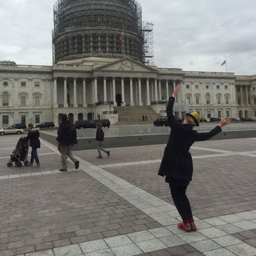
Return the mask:
POLYGON ((68 116, 66 114, 61 114, 60 116, 57 141, 60 143, 61 151, 62 169, 60 169, 60 171, 68 171, 67 156, 75 164, 75 169, 78 169, 79 161, 75 159, 75 156, 72 154, 74 144, 78 144, 76 129, 74 125, 68 121, 68 116))

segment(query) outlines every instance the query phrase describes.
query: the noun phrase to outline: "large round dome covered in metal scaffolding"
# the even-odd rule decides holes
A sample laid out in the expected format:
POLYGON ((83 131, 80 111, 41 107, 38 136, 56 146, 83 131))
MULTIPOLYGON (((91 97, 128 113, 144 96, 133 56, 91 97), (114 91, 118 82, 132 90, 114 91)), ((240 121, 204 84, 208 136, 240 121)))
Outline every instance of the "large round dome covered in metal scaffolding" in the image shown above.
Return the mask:
POLYGON ((151 32, 144 30, 142 7, 137 1, 58 0, 53 14, 53 63, 92 56, 129 56, 151 64, 153 24, 151 32))

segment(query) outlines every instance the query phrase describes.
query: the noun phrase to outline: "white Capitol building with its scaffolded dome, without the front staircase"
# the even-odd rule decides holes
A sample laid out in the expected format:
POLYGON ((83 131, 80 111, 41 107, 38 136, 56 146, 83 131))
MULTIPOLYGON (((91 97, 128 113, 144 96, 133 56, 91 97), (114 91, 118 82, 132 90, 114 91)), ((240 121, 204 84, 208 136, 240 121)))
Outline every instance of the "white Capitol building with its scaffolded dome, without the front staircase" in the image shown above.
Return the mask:
POLYGON ((0 127, 58 125, 61 113, 114 123, 127 106, 165 115, 177 85, 176 117, 256 119, 256 75, 157 68, 153 53, 153 24, 142 22, 137 1, 58 0, 53 66, 0 62, 0 127))

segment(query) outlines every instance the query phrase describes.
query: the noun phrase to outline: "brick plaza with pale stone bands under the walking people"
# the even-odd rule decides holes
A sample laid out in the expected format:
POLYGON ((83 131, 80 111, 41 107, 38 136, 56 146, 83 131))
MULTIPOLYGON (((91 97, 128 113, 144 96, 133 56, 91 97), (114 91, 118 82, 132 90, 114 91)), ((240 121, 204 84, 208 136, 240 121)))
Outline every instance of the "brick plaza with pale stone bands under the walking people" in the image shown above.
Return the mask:
POLYGON ((41 167, 8 168, 18 138, 0 137, 1 256, 256 255, 256 138, 193 145, 194 233, 157 175, 165 145, 75 151, 62 173, 43 140, 41 167))

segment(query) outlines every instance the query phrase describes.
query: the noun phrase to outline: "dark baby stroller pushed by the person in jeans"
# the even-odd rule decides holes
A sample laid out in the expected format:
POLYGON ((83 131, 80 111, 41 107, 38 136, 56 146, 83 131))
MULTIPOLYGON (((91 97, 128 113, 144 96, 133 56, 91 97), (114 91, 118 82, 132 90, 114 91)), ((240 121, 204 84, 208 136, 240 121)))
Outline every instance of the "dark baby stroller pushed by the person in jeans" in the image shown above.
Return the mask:
POLYGON ((14 149, 14 151, 11 154, 11 159, 10 161, 7 163, 8 167, 13 166, 13 162, 15 162, 15 165, 17 167, 21 167, 21 161, 23 161, 25 166, 28 166, 29 162, 28 162, 28 140, 26 139, 26 137, 21 137, 20 139, 18 139, 16 148, 14 149))

